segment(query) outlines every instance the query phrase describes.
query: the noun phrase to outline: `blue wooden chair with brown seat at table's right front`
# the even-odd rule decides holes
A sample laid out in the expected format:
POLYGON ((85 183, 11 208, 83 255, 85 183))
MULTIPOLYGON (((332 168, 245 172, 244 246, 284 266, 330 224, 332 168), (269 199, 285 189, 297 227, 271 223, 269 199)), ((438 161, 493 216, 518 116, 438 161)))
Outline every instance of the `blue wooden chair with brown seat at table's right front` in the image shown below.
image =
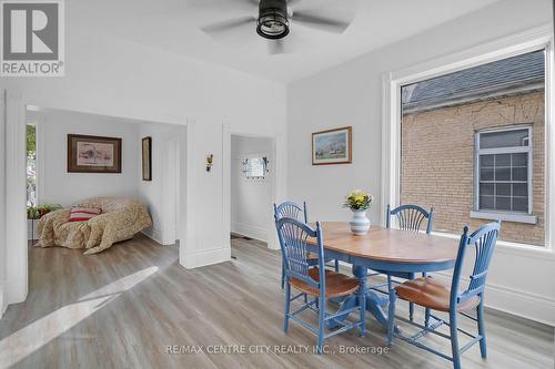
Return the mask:
POLYGON ((397 285, 394 289, 390 290, 390 300, 392 309, 390 310, 390 320, 387 329, 389 342, 392 342, 393 337, 398 337, 418 348, 425 349, 430 352, 441 356, 447 360, 453 361, 455 369, 461 369, 461 355, 470 349, 476 342, 480 342, 480 351, 482 358, 486 358, 486 332, 484 326, 484 288, 486 284, 487 270, 492 260, 495 243, 500 233, 501 222, 486 224, 482 226, 472 235, 468 235, 468 227, 464 227, 463 235, 461 236, 461 244, 458 246, 458 254, 453 271, 451 285, 430 277, 422 277, 414 280, 407 280, 397 285), (474 250, 474 267, 470 276, 470 284, 466 289, 460 289, 461 274, 465 255, 468 248, 474 250), (406 319, 398 318, 422 330, 412 337, 405 337, 401 334, 394 334, 395 320, 395 298, 398 297, 403 300, 411 301, 423 306, 428 309, 444 311, 448 314, 448 321, 440 319, 435 315, 431 317, 435 320, 434 324, 422 326, 406 319), (470 310, 476 309, 476 317, 468 314, 470 310), (457 316, 463 315, 477 324, 477 335, 472 335, 457 327, 457 316), (448 325, 450 335, 436 331, 442 325, 448 325), (418 338, 427 335, 428 332, 447 338, 451 340, 452 356, 447 356, 432 347, 425 346, 417 341, 418 338), (458 332, 470 337, 470 341, 462 348, 458 347, 458 332))

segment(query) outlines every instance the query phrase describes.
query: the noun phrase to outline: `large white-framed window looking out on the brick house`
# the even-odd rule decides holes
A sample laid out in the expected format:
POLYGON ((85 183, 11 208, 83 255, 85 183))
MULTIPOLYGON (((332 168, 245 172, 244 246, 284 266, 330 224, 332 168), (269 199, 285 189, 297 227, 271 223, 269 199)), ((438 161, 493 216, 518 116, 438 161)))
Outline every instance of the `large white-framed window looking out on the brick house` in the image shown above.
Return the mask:
POLYGON ((468 68, 457 59, 441 65, 442 59, 428 71, 392 73, 385 204, 433 207, 440 233, 501 219, 502 242, 555 239, 547 238, 555 228, 547 222, 551 54, 537 42, 537 49, 495 51, 495 58, 477 49, 468 68))

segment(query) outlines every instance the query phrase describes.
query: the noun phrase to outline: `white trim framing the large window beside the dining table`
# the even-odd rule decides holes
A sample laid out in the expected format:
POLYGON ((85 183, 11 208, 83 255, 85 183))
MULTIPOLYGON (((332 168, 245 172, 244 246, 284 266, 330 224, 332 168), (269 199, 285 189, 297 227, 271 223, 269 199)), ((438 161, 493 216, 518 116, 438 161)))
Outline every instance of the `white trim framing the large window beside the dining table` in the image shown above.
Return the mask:
MULTIPOLYGON (((555 259, 555 126, 551 120, 554 105, 553 80, 553 28, 545 24, 521 33, 505 37, 494 42, 484 43, 465 51, 441 57, 411 68, 383 75, 382 99, 382 193, 381 222, 385 223, 387 204, 396 206, 401 198, 401 88, 411 83, 457 72, 476 65, 498 61, 527 52, 545 50, 545 245, 515 244, 498 242, 500 249, 506 249, 523 256, 531 252, 539 253, 542 258, 555 259), (534 247, 536 246, 536 247, 534 247)), ((526 216, 524 214, 524 216, 526 216)), ((527 215, 531 216, 531 215, 527 215)), ((482 216, 483 217, 483 216, 482 216)), ((447 237, 461 236, 442 234, 447 237)))

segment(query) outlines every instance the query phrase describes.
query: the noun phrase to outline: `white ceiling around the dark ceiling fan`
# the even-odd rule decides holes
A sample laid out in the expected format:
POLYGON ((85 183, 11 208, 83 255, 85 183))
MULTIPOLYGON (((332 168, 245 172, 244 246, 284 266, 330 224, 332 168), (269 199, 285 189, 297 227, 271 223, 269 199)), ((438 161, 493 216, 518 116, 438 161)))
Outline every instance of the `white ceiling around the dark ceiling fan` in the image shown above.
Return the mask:
POLYGON ((77 17, 78 24, 93 28, 91 32, 105 32, 290 82, 496 1, 500 0, 301 0, 293 10, 316 8, 326 14, 337 13, 354 20, 342 34, 293 22, 285 39, 293 52, 278 55, 269 54, 268 41, 256 35, 254 23, 226 34, 224 40, 215 40, 200 30, 219 21, 254 17, 256 6, 243 0, 94 0, 65 4, 67 17, 77 17), (102 23, 100 29, 98 20, 102 23))

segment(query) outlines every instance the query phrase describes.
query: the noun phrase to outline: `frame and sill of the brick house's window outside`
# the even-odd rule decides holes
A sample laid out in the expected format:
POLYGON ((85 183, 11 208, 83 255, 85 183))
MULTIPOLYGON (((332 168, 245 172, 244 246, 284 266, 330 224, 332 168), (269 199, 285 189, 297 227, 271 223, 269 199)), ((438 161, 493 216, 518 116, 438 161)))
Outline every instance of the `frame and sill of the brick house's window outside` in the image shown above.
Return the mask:
POLYGON ((535 224, 536 217, 519 217, 523 214, 533 214, 533 130, 532 125, 512 125, 508 127, 502 129, 486 129, 480 130, 475 132, 474 139, 474 212, 471 213, 471 217, 476 218, 490 218, 490 213, 494 217, 500 216, 508 221, 511 218, 512 222, 522 222, 522 223, 531 223, 535 224), (492 133, 492 132, 508 132, 508 131, 528 131, 528 145, 527 146, 512 146, 512 147, 495 147, 495 148, 480 148, 480 140, 482 134, 492 133), (513 154, 513 153, 527 153, 528 154, 528 173, 527 173, 527 185, 528 185, 528 212, 514 212, 514 211, 490 211, 490 209, 481 209, 480 208, 480 155, 492 155, 492 154, 513 154), (509 215, 507 217, 507 215, 509 215), (518 221, 521 219, 521 221, 518 221))

